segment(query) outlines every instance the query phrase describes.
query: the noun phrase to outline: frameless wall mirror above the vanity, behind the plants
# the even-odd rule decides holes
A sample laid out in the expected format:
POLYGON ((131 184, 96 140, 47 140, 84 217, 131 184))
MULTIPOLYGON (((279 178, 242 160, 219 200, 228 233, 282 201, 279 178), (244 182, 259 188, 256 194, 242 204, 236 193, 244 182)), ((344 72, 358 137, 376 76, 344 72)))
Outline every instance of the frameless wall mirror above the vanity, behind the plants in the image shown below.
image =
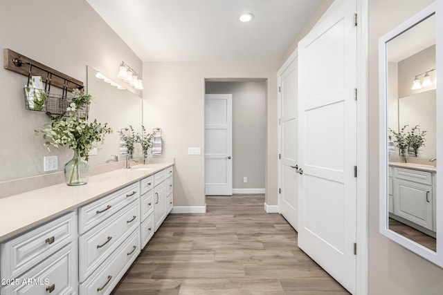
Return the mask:
MULTIPOLYGON (((138 132, 143 121, 141 97, 127 89, 112 86, 110 80, 105 82, 97 77, 98 73, 98 70, 87 66, 87 91, 94 97, 89 107, 89 120, 107 122, 114 133, 107 135, 103 144, 98 144, 97 155, 89 156, 91 165, 114 162, 114 155, 118 156, 118 160, 124 160, 124 156, 120 155, 118 131, 132 125, 138 132)), ((140 149, 136 149, 134 158, 141 156, 140 149)))

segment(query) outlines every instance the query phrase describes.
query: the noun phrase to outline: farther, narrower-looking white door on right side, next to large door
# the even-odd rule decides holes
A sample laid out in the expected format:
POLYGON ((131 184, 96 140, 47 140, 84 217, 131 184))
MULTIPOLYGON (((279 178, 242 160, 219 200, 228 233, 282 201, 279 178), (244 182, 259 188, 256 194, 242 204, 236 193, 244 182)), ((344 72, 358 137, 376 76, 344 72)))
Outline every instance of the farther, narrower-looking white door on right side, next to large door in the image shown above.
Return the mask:
POLYGON ((298 59, 280 73, 280 213, 298 230, 298 59))

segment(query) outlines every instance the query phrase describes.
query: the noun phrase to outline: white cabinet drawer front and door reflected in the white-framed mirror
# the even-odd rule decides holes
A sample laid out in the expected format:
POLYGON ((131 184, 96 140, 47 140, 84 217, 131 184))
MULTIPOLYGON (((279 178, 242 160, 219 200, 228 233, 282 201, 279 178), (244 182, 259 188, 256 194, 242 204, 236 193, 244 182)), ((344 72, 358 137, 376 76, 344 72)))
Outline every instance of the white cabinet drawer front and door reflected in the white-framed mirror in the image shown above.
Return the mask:
POLYGON ((394 214, 425 229, 434 228, 433 173, 395 167, 394 214))

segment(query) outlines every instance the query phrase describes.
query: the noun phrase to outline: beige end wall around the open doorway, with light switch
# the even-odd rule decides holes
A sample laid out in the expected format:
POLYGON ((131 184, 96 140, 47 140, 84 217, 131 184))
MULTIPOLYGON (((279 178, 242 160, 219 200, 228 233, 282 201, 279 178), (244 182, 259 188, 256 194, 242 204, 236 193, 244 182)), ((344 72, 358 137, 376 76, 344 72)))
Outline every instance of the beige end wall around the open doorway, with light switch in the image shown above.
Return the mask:
POLYGON ((175 157, 174 205, 204 206, 205 79, 266 82, 266 203, 277 204, 277 62, 145 62, 144 124, 161 127, 165 157, 175 157), (188 155, 188 147, 201 155, 188 155))

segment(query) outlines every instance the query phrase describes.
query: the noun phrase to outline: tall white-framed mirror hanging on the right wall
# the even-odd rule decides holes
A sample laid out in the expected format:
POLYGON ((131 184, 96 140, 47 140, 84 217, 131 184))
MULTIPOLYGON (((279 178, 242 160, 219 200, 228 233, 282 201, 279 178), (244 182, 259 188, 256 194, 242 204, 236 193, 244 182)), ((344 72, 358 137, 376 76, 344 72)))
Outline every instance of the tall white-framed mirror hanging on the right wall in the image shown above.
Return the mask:
POLYGON ((436 1, 379 40, 380 231, 443 267, 441 10, 436 1))

